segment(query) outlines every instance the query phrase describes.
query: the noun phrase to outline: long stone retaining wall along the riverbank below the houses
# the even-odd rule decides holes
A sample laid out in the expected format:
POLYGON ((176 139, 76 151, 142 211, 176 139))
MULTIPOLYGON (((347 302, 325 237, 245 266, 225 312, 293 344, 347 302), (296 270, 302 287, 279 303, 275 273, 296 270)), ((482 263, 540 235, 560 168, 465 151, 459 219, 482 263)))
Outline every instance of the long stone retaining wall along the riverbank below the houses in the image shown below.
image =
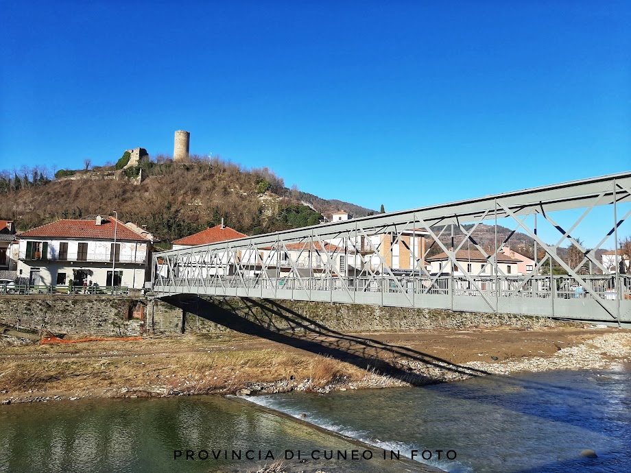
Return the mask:
POLYGON ((60 333, 125 337, 145 333, 213 333, 231 329, 255 334, 257 327, 285 333, 368 332, 499 326, 540 328, 567 323, 525 315, 291 300, 202 300, 186 296, 147 301, 145 298, 112 296, 2 295, 0 324, 60 333))

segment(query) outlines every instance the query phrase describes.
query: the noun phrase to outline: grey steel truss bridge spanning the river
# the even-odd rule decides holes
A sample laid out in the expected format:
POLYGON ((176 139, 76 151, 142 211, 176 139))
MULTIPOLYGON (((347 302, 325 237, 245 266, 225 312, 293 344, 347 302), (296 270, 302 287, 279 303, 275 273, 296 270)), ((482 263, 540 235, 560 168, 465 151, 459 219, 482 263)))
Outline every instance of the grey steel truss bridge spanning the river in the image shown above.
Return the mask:
POLYGON ((619 260, 605 267, 596 255, 631 236, 623 227, 630 215, 631 172, 604 175, 160 252, 153 258, 153 290, 158 298, 377 304, 631 326, 631 276, 619 260), (590 223, 595 215, 597 226, 590 223), (585 226, 602 234, 594 248, 582 244, 585 226), (495 234, 495 245, 477 242, 482 229, 495 234), (543 241, 542 230, 548 241, 556 235, 553 243, 543 241), (516 232, 534 240, 525 274, 507 274, 501 264, 503 245, 518 243, 516 232), (562 247, 571 247, 574 258, 562 257, 562 247), (427 255, 437 249, 445 265, 431 271, 427 255), (477 267, 484 269, 463 260, 472 251, 483 255, 477 267))

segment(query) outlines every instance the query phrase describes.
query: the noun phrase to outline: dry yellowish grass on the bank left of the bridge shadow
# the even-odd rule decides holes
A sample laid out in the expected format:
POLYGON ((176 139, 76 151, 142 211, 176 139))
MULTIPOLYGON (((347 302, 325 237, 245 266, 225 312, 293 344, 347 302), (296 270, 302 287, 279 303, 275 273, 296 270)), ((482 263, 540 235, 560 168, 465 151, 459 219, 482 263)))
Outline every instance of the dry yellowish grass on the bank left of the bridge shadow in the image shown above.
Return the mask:
POLYGON ((285 381, 278 389, 293 389, 307 379, 307 389, 320 389, 344 376, 364 376, 359 368, 308 352, 209 345, 204 337, 32 345, 3 355, 0 397, 121 388, 162 395, 235 393, 278 381, 285 381))

